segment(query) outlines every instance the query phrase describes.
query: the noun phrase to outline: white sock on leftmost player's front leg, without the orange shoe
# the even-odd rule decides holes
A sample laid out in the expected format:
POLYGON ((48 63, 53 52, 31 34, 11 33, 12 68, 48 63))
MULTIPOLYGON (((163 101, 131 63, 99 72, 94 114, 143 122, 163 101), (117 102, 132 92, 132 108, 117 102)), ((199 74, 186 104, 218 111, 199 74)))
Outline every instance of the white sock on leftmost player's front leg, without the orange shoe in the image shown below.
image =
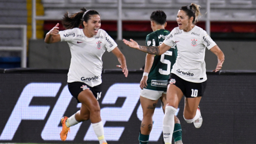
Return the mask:
POLYGON ((103 123, 102 121, 100 121, 99 123, 92 123, 92 127, 93 127, 93 130, 94 130, 94 133, 97 135, 98 137, 98 140, 100 142, 100 144, 102 143, 107 143, 107 141, 105 140, 105 137, 104 137, 104 130, 103 130, 103 123))

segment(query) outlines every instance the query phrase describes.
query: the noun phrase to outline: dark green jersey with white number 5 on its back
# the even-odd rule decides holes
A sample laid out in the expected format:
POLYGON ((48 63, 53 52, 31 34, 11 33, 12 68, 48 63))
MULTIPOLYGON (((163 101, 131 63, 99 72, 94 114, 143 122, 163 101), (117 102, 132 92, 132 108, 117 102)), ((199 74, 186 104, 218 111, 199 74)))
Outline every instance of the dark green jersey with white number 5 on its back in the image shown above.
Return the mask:
MULTIPOLYGON (((170 31, 158 29, 146 37, 147 46, 161 45, 170 34, 170 31)), ((148 74, 147 88, 149 90, 166 91, 167 79, 171 74, 171 69, 177 58, 177 46, 174 44, 170 50, 162 55, 155 55, 153 65, 148 74)))

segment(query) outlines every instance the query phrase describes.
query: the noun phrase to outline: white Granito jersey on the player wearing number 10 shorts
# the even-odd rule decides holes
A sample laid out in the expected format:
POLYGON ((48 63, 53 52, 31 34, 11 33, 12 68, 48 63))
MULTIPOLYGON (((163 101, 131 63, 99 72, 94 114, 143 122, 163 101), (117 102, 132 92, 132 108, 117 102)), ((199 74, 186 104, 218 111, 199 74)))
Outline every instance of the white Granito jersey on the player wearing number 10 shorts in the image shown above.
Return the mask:
POLYGON ((211 49, 216 43, 202 28, 195 26, 189 32, 174 28, 163 42, 177 46, 178 57, 171 73, 193 83, 206 81, 205 47, 211 49))

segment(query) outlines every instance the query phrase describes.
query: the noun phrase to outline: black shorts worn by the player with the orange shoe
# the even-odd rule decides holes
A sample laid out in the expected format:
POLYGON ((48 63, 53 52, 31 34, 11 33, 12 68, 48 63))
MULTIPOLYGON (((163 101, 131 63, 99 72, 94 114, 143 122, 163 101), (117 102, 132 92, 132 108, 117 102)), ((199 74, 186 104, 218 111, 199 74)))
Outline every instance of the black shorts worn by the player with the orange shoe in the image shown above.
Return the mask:
POLYGON ((101 84, 91 87, 82 82, 72 82, 72 83, 68 83, 68 90, 71 93, 71 95, 77 100, 78 103, 81 103, 77 98, 78 94, 84 90, 92 91, 94 97, 97 100, 99 100, 101 96, 101 84))

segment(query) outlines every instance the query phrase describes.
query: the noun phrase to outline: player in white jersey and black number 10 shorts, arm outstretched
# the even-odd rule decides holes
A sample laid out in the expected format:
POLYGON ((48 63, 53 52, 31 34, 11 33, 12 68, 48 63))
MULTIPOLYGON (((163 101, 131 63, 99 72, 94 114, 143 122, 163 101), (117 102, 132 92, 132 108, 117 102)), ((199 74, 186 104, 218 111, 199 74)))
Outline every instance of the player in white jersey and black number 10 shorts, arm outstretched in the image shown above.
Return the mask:
POLYGON ((164 141, 172 142, 174 129, 174 115, 179 102, 185 95, 183 117, 187 123, 194 123, 196 128, 201 127, 203 118, 198 107, 206 86, 205 47, 218 57, 215 72, 219 71, 224 62, 224 54, 217 44, 202 28, 195 26, 198 21, 199 5, 182 6, 177 14, 178 26, 165 38, 159 46, 140 46, 131 39, 123 39, 124 43, 134 49, 150 54, 161 55, 174 44, 178 49, 178 57, 173 65, 169 84, 167 86, 167 105, 163 119, 164 141))

